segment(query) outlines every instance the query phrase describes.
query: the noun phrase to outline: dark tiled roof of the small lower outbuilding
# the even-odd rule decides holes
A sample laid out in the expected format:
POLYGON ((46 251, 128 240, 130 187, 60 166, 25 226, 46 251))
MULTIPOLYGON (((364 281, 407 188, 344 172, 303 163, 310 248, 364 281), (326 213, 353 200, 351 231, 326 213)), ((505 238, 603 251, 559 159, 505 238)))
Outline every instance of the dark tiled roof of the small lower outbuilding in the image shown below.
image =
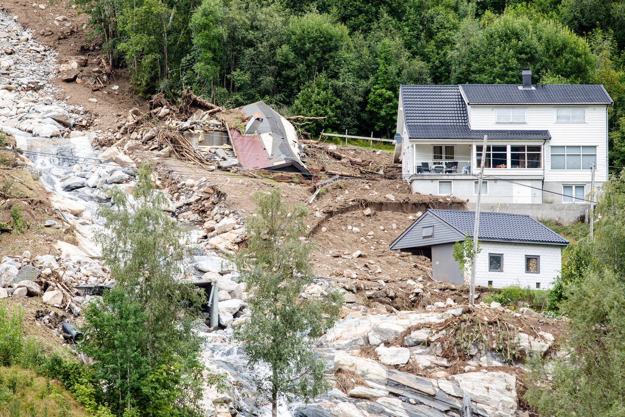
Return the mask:
MULTIPOLYGON (((473 237, 475 212, 463 210, 429 209, 427 212, 473 237)), ((569 241, 526 214, 481 212, 479 214, 479 240, 498 242, 568 245, 569 241)))

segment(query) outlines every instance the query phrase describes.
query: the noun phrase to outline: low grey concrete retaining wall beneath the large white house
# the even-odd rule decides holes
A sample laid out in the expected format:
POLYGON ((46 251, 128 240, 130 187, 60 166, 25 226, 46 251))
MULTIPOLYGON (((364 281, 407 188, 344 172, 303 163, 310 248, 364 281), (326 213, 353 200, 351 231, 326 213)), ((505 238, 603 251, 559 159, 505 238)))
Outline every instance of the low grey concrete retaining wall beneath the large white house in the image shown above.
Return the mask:
MULTIPOLYGON (((536 220, 551 220, 560 224, 571 224, 586 215, 590 204, 554 203, 554 204, 514 204, 514 203, 480 203, 484 212, 512 214, 529 214, 536 220)), ((466 203, 467 210, 475 210, 475 203, 466 203)))

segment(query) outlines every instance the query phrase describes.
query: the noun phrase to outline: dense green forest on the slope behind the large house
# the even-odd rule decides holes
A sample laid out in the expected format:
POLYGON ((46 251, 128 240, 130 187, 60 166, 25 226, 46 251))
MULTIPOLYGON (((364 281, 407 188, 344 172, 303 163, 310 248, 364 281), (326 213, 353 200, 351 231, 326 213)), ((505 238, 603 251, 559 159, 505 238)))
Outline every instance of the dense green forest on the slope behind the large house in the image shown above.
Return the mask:
POLYGON ((401 83, 598 83, 625 163, 624 0, 78 0, 143 96, 191 86, 321 129, 392 136, 401 83))

